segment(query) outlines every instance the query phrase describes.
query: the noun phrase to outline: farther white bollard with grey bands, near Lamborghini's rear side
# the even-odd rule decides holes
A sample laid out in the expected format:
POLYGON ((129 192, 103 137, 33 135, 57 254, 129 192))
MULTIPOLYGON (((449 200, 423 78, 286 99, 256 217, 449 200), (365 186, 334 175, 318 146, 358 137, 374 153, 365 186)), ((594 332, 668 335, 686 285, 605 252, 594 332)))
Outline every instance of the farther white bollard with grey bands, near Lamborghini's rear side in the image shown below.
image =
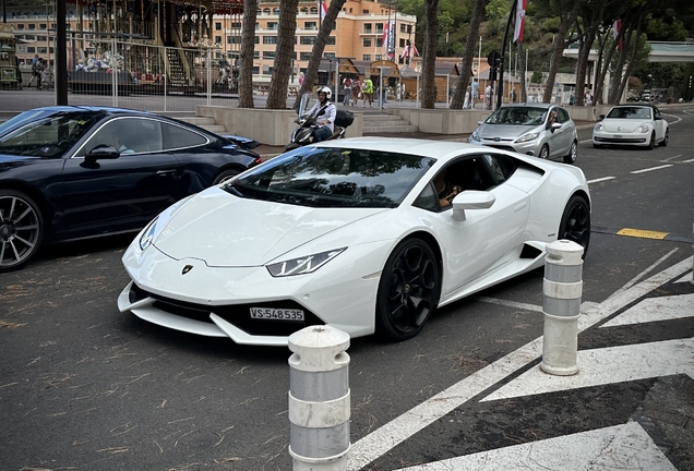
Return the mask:
POLYGON ((578 373, 578 316, 583 293, 583 247, 558 240, 547 245, 542 312, 545 341, 540 369, 553 375, 578 373))

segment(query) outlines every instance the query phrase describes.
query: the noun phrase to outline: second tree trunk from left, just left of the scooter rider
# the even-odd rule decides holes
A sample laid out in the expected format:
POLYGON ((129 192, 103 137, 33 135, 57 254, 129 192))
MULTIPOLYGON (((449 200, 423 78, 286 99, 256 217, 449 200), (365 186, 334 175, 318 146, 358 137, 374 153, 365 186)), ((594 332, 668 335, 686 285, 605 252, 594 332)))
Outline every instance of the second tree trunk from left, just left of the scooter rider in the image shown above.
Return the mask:
POLYGON ((279 31, 277 32, 277 52, 273 63, 273 80, 267 93, 267 109, 287 107, 287 89, 291 75, 291 61, 297 35, 297 10, 299 0, 279 2, 279 31))

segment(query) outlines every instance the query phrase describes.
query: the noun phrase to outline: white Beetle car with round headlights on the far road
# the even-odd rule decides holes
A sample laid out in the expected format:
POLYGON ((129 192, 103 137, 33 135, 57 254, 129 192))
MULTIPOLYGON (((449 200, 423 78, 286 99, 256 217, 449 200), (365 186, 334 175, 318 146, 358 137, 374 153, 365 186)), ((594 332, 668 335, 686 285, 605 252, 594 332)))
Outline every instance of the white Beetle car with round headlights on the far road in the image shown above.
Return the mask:
POLYGON ((670 129, 654 105, 618 105, 593 129, 593 146, 629 145, 654 148, 668 145, 670 129))

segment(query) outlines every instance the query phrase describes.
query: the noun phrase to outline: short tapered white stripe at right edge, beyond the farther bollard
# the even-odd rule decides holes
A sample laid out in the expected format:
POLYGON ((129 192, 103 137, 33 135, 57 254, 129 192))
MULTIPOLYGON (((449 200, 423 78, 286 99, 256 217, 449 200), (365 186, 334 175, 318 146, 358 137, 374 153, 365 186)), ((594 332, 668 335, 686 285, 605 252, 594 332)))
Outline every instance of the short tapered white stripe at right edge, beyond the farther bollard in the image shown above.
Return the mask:
POLYGON ((649 298, 600 326, 617 327, 694 317, 694 294, 649 298))

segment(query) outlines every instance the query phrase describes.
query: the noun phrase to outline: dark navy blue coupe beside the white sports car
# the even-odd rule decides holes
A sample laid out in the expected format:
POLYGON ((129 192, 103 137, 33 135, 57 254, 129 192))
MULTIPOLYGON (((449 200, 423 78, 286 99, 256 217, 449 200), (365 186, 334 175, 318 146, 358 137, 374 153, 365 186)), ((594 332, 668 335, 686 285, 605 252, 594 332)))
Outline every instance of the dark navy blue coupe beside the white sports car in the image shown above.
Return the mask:
POLYGON ((258 164, 242 137, 149 112, 48 107, 0 125, 0 271, 46 243, 142 229, 258 164))

